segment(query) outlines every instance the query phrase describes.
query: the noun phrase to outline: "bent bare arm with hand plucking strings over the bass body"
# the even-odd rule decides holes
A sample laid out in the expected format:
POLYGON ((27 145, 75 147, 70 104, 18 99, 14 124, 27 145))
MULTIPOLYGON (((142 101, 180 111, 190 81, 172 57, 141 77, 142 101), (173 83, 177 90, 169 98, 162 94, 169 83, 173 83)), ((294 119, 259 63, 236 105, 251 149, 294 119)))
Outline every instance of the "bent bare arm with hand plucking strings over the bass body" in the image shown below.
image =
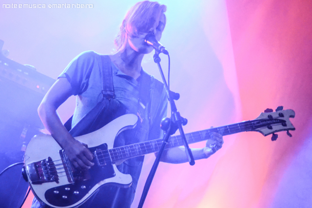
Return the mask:
POLYGON ((53 138, 65 150, 67 157, 78 169, 87 169, 94 164, 90 162, 92 153, 74 139, 62 124, 57 109, 71 95, 73 90, 66 78, 59 78, 44 96, 38 107, 39 117, 53 138))

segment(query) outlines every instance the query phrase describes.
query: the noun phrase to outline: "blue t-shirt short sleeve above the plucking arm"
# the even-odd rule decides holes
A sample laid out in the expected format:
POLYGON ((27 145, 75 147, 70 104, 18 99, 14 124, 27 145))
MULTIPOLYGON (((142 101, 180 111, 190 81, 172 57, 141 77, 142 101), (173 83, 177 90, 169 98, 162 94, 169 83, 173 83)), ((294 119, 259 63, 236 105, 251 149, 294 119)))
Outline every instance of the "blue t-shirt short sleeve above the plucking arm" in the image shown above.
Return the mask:
POLYGON ((85 51, 73 59, 59 75, 68 80, 74 95, 83 93, 88 88, 88 82, 95 63, 94 51, 85 51))

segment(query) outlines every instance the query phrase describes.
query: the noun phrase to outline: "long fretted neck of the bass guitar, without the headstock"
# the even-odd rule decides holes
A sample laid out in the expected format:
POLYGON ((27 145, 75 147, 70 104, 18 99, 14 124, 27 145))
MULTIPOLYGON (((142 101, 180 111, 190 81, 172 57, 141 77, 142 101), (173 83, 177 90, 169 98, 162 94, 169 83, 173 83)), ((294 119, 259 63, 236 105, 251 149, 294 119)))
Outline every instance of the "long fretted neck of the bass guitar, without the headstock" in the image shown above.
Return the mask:
MULTIPOLYGON (((263 125, 261 124, 261 120, 244 121, 232 125, 224 125, 220 127, 187 133, 185 134, 185 136, 188 143, 193 144, 210 139, 212 137, 213 132, 217 132, 222 136, 225 136, 243 131, 252 131, 255 127, 259 125, 263 125)), ((128 146, 120 146, 113 149, 109 149, 108 151, 112 158, 112 162, 115 163, 117 161, 127 160, 129 158, 157 152, 159 151, 161 144, 162 139, 156 139, 128 146)), ((181 138, 181 135, 171 136, 165 148, 169 149, 177 146, 184 146, 184 142, 181 138)))

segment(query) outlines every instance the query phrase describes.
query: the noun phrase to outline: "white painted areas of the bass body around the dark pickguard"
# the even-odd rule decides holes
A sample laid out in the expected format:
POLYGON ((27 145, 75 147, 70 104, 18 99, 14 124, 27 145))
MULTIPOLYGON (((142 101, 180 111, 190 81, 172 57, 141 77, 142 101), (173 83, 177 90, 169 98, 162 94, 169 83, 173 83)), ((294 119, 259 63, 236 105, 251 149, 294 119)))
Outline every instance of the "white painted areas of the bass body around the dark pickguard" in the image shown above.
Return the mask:
MULTIPOLYGON (((75 137, 78 141, 87 144, 88 147, 99 146, 101 144, 106 143, 108 149, 113 148, 114 140, 117 135, 127 129, 133 128, 137 123, 137 116, 134 114, 126 114, 123 116, 118 117, 117 119, 113 120, 109 124, 103 126, 102 128, 98 129, 97 131, 91 132, 89 134, 85 134, 82 136, 75 137)), ((53 161, 61 160, 59 155, 59 150, 61 147, 59 144, 54 140, 51 135, 41 134, 35 136, 30 143, 28 144, 25 152, 25 166, 32 164, 34 162, 38 162, 44 160, 48 157, 51 157, 53 161)), ((61 164, 61 162, 59 161, 61 164)), ((55 164, 59 164, 55 162, 55 164)), ((87 198, 89 198, 100 186, 105 184, 115 184, 121 187, 129 187, 132 183, 132 177, 129 174, 123 174, 118 171, 115 164, 113 164, 114 170, 116 175, 112 178, 105 179, 100 181, 96 186, 94 186, 79 202, 73 204, 71 206, 63 207, 63 208, 73 208, 81 203, 83 203, 87 198)), ((64 175, 63 177, 59 177, 59 184, 56 182, 49 182, 43 184, 32 184, 30 181, 30 176, 27 173, 28 181, 30 182, 30 186, 33 192, 36 194, 37 198, 44 202, 45 204, 55 207, 48 203, 44 197, 44 193, 46 190, 59 187, 62 185, 69 184, 65 173, 60 173, 59 175, 64 175)), ((58 207, 55 207, 58 208, 58 207)))

